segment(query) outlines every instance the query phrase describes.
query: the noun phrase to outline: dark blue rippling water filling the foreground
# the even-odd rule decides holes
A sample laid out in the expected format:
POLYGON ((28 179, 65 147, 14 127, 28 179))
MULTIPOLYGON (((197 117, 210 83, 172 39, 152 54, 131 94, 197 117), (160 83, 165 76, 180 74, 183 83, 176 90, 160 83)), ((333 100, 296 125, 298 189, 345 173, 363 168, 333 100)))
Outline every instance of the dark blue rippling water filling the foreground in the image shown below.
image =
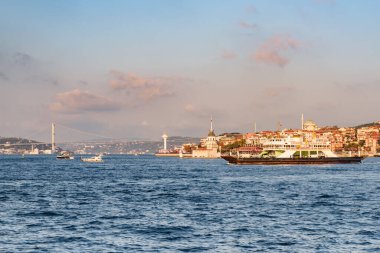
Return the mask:
POLYGON ((0 156, 0 252, 380 252, 380 159, 0 156))

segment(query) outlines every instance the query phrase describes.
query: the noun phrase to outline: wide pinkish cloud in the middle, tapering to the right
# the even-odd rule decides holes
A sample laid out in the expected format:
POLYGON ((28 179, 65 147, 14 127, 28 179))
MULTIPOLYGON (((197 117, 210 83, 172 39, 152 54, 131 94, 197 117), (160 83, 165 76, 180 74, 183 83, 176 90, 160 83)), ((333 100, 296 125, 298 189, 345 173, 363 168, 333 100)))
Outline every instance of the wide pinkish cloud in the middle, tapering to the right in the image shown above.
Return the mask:
POLYGON ((143 77, 118 70, 111 70, 109 76, 109 85, 113 90, 124 90, 127 94, 145 101, 172 96, 172 86, 187 81, 180 77, 143 77))

